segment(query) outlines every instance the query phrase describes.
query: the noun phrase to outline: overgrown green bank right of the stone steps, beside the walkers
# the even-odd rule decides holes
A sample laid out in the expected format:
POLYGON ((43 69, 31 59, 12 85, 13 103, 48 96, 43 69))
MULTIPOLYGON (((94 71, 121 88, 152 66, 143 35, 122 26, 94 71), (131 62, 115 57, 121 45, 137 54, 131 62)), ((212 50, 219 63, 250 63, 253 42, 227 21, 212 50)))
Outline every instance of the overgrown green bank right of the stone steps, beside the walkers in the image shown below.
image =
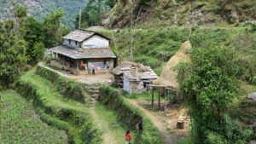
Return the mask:
POLYGON ((99 101, 102 104, 118 112, 119 124, 124 124, 128 127, 133 134, 134 143, 148 143, 148 144, 160 144, 163 143, 163 139, 159 130, 154 127, 150 118, 139 110, 138 107, 132 107, 123 96, 117 95, 117 91, 103 85, 100 88, 99 101), (143 133, 139 134, 135 132, 136 124, 143 119, 143 133))

